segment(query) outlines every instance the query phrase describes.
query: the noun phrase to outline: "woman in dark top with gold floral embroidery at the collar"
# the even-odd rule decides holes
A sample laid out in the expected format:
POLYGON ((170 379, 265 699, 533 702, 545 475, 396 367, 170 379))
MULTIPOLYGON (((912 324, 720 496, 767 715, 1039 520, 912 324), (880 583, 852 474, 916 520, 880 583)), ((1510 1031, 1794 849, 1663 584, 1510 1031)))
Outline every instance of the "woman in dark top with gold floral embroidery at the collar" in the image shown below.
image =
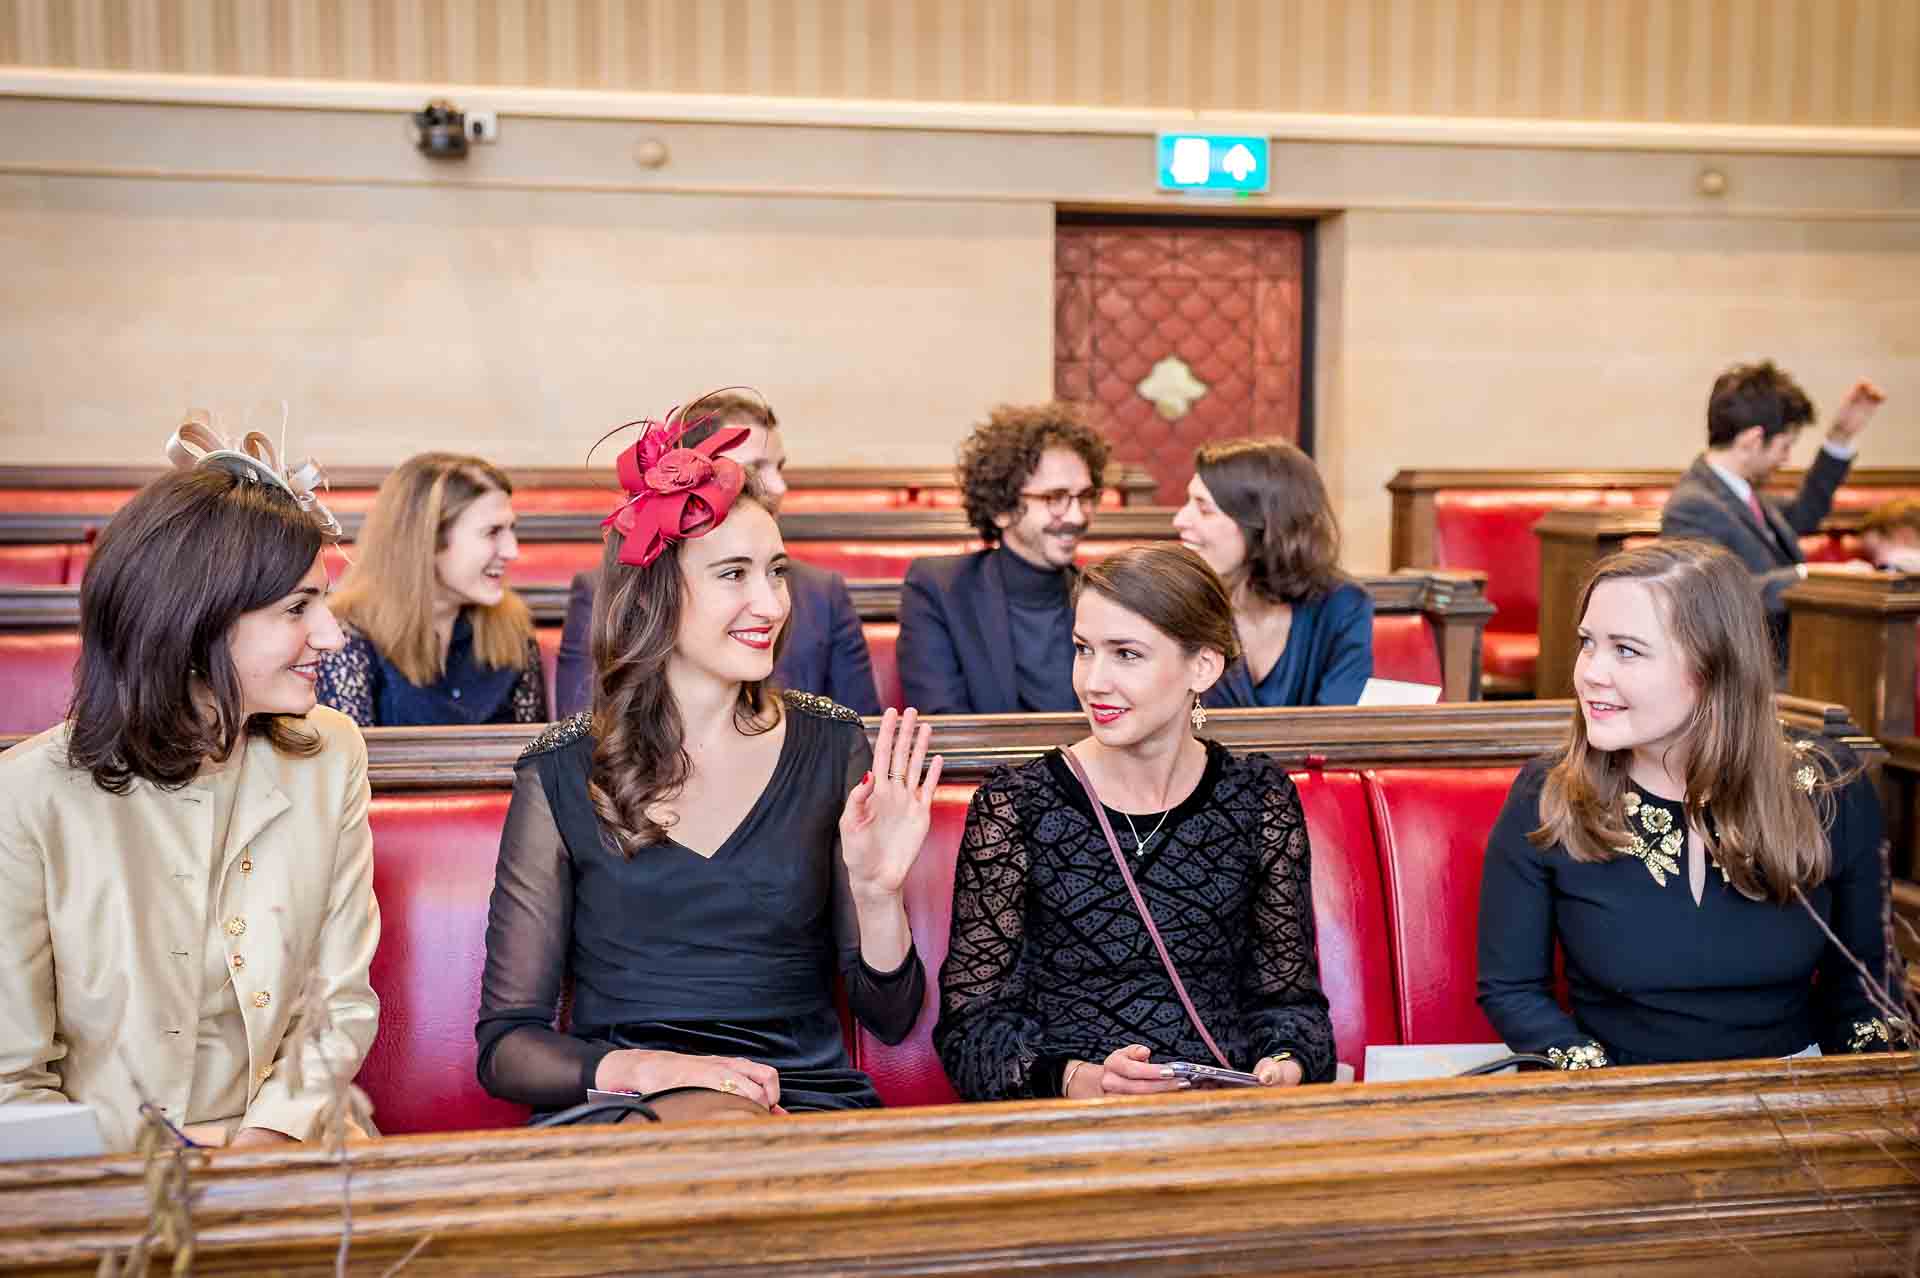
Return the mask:
POLYGON ((1574 693, 1486 848, 1480 1007, 1507 1046, 1563 1069, 1887 1048, 1880 804, 1780 729, 1740 562, 1699 541, 1601 560, 1574 693))

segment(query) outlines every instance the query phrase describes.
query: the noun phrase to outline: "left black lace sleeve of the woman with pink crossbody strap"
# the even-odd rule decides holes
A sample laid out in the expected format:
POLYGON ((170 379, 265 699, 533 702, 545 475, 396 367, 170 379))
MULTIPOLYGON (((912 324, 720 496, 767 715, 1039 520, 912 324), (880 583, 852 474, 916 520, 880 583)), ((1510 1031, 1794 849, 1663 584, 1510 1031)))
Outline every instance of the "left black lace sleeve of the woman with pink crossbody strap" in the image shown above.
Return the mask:
MULTIPOLYGON (((968 1100, 1037 1096, 1041 1023, 1027 1009, 1020 948, 1027 927, 1021 781, 996 771, 968 804, 954 865, 952 936, 941 965, 933 1046, 968 1100)), ((1056 1088, 1058 1090, 1058 1088, 1056 1088)))

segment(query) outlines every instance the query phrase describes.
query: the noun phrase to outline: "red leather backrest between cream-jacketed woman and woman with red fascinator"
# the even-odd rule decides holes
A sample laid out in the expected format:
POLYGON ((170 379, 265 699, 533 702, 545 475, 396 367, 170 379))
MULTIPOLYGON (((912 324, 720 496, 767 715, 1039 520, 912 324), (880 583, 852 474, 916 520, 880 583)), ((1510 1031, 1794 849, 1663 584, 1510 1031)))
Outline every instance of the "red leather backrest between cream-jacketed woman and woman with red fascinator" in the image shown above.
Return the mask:
POLYGON ((486 913, 507 800, 507 791, 476 791, 372 802, 380 1032, 357 1082, 382 1132, 526 1123, 524 1105, 493 1100, 474 1075, 486 913))

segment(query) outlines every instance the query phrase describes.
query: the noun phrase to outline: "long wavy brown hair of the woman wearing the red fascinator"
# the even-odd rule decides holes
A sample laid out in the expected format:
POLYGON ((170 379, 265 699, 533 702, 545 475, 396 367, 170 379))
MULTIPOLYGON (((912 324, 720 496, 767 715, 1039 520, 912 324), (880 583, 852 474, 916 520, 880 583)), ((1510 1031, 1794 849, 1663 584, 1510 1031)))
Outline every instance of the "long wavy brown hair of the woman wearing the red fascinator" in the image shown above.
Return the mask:
MULTIPOLYGON (((733 501, 766 509, 749 485, 733 501)), ((732 516, 730 510, 728 514, 732 516)), ((672 800, 687 783, 687 725, 666 683, 666 666, 680 639, 687 580, 680 570, 685 541, 674 543, 645 568, 620 562, 626 537, 607 530, 601 553, 601 587, 593 597, 593 771, 588 793, 620 852, 666 842, 670 831, 647 808, 672 800)), ((791 616, 789 616, 791 624, 791 616)), ((787 631, 774 637, 774 664, 787 651, 787 631)), ((756 737, 780 725, 780 698, 772 681, 741 683, 733 725, 756 737)))

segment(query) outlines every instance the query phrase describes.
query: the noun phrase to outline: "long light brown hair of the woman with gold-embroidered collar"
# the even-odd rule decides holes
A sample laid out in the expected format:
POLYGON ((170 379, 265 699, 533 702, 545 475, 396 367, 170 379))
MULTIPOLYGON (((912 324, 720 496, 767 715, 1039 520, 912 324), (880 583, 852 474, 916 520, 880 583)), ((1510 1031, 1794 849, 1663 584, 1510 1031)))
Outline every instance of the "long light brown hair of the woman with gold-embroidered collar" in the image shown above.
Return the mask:
MULTIPOLYGON (((1774 712, 1766 614, 1740 560, 1705 541, 1655 541, 1599 560, 1580 591, 1586 616, 1603 581, 1640 581, 1688 664, 1699 700, 1684 723, 1686 816, 1718 829, 1716 860, 1753 900, 1788 902, 1826 879, 1836 777, 1811 743, 1791 743, 1774 712), (1795 773, 1812 768, 1809 794, 1795 773)), ((1632 750, 1596 750, 1578 708, 1540 794, 1538 848, 1561 844, 1576 862, 1611 862, 1628 842, 1624 796, 1632 750)))

